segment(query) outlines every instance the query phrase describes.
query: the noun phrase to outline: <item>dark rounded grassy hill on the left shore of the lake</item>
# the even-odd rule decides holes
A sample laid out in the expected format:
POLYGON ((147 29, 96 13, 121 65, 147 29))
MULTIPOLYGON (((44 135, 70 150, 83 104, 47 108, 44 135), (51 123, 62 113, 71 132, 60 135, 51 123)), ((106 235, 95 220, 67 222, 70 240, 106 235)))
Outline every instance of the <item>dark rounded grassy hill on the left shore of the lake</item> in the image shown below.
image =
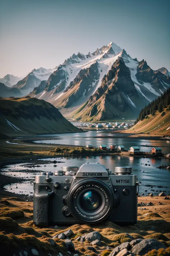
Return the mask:
POLYGON ((36 98, 0 99, 1 133, 9 136, 79 132, 50 103, 36 98), (20 130, 11 127, 5 118, 20 130))

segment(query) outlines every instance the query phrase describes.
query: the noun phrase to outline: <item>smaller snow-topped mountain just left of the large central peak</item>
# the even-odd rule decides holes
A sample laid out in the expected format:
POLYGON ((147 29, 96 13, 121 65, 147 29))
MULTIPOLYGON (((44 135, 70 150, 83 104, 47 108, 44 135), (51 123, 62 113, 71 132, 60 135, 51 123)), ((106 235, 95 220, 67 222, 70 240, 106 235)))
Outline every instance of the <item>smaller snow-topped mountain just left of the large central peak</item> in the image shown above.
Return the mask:
POLYGON ((18 81, 13 87, 18 88, 22 95, 25 96, 34 90, 34 87, 38 87, 41 84, 41 81, 47 80, 54 71, 55 69, 33 69, 27 76, 18 81))

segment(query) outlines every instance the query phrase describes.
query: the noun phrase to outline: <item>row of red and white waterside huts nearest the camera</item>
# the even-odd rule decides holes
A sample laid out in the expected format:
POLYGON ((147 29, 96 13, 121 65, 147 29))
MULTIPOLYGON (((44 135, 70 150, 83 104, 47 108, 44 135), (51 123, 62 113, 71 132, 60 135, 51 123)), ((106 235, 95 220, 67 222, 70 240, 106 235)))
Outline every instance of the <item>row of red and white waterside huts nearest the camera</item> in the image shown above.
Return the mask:
MULTIPOLYGON (((95 148, 91 144, 87 144, 86 148, 92 149, 95 148)), ((99 149, 102 150, 110 150, 113 153, 119 153, 119 154, 125 154, 125 155, 156 155, 156 156, 162 156, 162 149, 161 148, 152 148, 150 150, 141 150, 139 147, 131 147, 129 149, 125 149, 123 145, 117 146, 117 144, 111 144, 109 148, 107 148, 106 144, 101 144, 99 146, 99 149)))

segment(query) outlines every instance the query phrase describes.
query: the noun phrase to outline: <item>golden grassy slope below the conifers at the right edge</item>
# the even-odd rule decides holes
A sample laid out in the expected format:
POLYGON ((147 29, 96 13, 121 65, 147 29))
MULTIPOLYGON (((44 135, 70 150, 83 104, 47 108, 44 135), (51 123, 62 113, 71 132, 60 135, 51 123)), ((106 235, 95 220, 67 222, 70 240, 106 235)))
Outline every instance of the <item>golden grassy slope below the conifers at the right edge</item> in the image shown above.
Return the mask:
POLYGON ((170 135, 170 111, 164 110, 165 115, 161 116, 161 113, 156 111, 154 116, 148 115, 147 119, 139 121, 135 126, 127 131, 126 133, 150 133, 160 135, 170 135))

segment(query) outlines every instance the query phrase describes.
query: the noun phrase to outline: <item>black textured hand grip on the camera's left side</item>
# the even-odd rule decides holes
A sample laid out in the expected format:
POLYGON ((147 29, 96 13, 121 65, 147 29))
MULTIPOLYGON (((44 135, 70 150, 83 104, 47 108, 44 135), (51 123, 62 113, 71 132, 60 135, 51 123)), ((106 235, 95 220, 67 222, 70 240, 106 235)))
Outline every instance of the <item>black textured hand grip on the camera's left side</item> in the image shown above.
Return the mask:
POLYGON ((51 199, 53 192, 45 190, 46 184, 35 184, 33 198, 33 223, 48 226, 51 222, 51 199))

